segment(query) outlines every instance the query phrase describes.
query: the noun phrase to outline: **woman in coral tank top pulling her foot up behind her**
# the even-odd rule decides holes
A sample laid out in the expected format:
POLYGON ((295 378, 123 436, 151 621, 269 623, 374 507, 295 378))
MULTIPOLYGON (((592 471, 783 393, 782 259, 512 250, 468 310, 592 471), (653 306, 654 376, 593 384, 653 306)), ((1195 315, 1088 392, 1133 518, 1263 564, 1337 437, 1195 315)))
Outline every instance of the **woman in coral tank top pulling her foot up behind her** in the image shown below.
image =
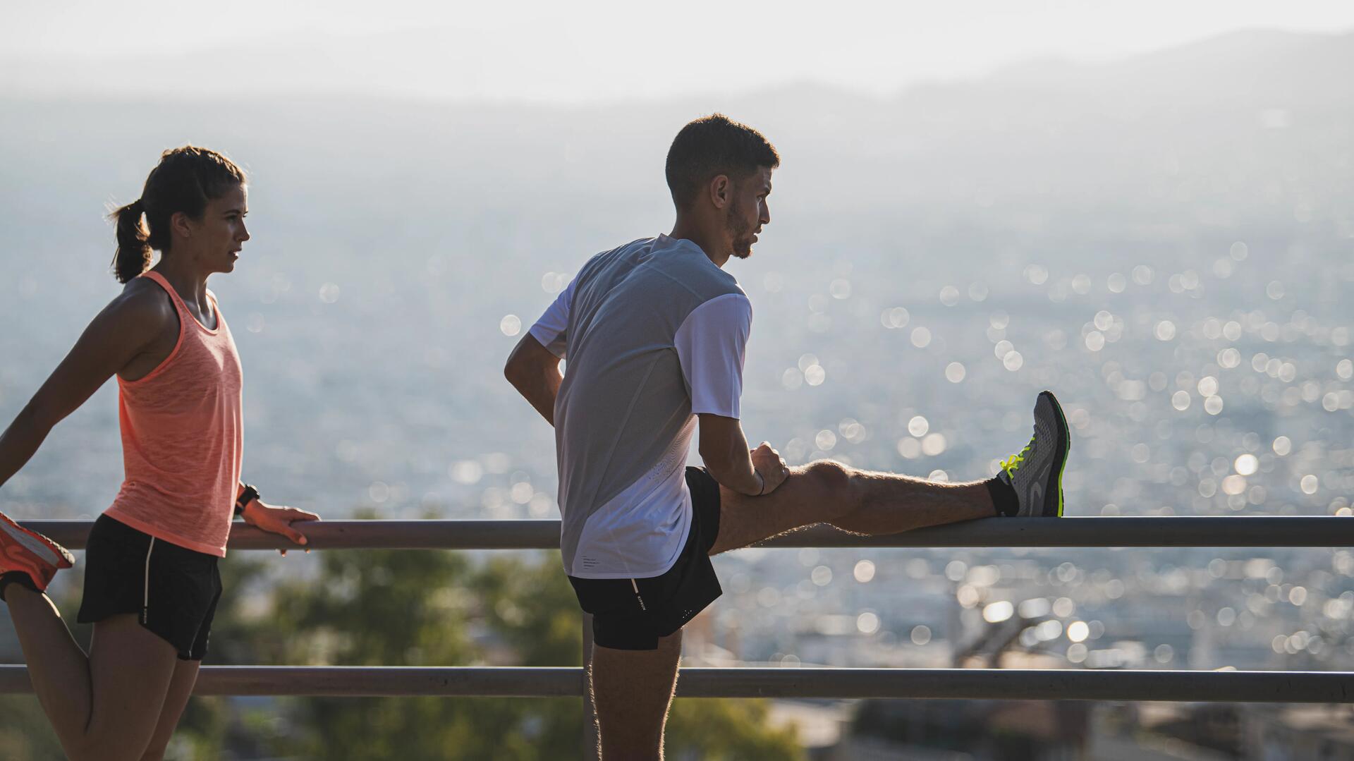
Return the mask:
POLYGON ((0 436, 3 486, 118 376, 126 479, 87 544, 88 655, 43 594, 70 552, 0 515, 0 597, 70 758, 161 758, 206 653, 233 515, 299 544, 292 521, 320 517, 267 505, 240 482, 240 360, 207 278, 234 269, 245 214, 245 173, 229 158, 167 150, 141 199, 111 215, 122 294, 0 436), (152 251, 161 259, 148 269, 152 251))

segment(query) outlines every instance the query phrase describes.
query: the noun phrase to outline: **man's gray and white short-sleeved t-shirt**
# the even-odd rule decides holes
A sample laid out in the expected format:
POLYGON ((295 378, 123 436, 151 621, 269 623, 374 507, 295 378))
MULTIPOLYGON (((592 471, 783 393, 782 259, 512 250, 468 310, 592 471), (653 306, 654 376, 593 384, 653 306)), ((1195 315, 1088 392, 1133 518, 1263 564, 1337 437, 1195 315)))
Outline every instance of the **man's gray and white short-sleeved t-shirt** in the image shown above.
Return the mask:
POLYGON ((750 329, 738 280, 668 236, 594 256, 532 325, 566 360, 555 447, 569 575, 649 578, 673 566, 691 527, 695 416, 739 417, 750 329))

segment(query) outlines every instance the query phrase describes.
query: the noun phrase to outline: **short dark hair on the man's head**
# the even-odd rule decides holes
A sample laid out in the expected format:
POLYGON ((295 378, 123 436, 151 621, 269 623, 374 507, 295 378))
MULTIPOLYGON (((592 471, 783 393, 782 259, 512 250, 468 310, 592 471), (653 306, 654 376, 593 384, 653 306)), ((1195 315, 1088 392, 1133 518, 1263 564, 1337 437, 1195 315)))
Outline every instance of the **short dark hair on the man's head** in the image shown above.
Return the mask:
POLYGON ((668 149, 668 190, 677 209, 689 209, 718 175, 741 180, 757 169, 780 167, 780 154, 762 134, 723 114, 691 122, 668 149))

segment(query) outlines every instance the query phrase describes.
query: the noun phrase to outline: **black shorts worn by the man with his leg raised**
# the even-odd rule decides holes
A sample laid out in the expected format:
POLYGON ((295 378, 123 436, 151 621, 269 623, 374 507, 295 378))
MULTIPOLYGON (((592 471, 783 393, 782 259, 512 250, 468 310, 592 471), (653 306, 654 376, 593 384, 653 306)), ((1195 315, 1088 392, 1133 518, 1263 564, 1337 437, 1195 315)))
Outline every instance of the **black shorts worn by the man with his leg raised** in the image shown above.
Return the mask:
POLYGON ((719 483, 704 469, 686 469, 691 532, 668 573, 653 578, 575 578, 574 594, 593 615, 593 642, 616 650, 657 650, 658 638, 680 630, 723 589, 709 562, 719 535, 719 483))

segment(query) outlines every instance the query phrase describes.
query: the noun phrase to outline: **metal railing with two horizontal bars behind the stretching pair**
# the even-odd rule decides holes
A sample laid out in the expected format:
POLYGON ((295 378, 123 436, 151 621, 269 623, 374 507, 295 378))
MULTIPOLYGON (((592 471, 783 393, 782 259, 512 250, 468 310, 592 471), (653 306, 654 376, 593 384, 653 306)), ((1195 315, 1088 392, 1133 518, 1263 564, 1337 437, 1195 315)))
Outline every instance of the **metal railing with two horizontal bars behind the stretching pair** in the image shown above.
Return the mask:
MULTIPOLYGON (((89 521, 24 521, 79 550, 89 521)), ((334 520, 306 527, 309 548, 554 550, 554 520, 334 520)), ((1345 547, 1345 517, 1001 519, 856 536, 796 531, 764 547, 1345 547)), ((236 550, 295 548, 237 524, 236 550)), ((203 666, 196 695, 515 696, 585 695, 580 668, 203 666)), ((0 666, 0 693, 31 692, 24 666, 0 666)), ((1082 669, 682 669, 685 697, 909 697, 1350 703, 1354 673, 1082 669)))

